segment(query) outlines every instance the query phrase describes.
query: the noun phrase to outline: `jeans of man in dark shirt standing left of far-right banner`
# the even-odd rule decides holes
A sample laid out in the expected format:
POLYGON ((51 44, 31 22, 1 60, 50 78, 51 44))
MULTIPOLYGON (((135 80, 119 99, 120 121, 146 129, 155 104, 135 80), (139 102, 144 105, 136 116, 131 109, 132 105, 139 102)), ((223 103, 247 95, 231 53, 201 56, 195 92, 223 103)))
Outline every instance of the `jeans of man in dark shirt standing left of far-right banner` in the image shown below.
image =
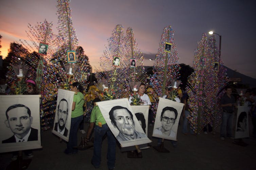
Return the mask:
POLYGON ((232 122, 234 118, 234 113, 222 114, 222 123, 220 128, 220 137, 232 137, 232 122))

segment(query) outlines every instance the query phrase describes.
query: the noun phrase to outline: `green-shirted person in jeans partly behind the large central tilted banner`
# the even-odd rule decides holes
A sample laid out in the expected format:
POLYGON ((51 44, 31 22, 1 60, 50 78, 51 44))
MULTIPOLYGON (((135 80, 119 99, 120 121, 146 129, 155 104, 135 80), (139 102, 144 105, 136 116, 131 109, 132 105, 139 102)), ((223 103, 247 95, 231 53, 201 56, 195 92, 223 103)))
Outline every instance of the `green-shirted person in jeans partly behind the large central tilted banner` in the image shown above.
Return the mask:
POLYGON ((109 129, 101 111, 99 110, 99 107, 96 106, 96 102, 100 101, 100 99, 95 98, 93 100, 94 108, 92 109, 91 119, 90 119, 90 126, 87 131, 87 136, 85 141, 89 141, 90 135, 92 133, 93 127, 95 125, 94 129, 94 143, 93 143, 93 157, 91 160, 91 164, 94 166, 94 168, 99 168, 100 166, 100 160, 101 160, 101 145, 102 145, 102 138, 107 133, 108 138, 108 153, 107 153, 107 159, 108 159, 108 169, 114 169, 115 166, 115 150, 116 150, 116 141, 115 136, 109 129))

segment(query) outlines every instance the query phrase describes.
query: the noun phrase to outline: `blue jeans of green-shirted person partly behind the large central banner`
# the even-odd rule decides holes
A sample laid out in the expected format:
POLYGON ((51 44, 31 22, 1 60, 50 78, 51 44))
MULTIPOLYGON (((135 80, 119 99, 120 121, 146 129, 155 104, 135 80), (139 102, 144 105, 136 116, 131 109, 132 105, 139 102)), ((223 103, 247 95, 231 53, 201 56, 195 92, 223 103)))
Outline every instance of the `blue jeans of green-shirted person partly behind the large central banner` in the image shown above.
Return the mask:
POLYGON ((116 141, 115 136, 109 129, 107 124, 102 125, 102 127, 95 126, 94 129, 94 150, 92 157, 92 164, 94 167, 99 167, 101 161, 101 147, 102 147, 102 137, 107 133, 108 137, 108 168, 112 169, 115 166, 115 149, 116 149, 116 141))

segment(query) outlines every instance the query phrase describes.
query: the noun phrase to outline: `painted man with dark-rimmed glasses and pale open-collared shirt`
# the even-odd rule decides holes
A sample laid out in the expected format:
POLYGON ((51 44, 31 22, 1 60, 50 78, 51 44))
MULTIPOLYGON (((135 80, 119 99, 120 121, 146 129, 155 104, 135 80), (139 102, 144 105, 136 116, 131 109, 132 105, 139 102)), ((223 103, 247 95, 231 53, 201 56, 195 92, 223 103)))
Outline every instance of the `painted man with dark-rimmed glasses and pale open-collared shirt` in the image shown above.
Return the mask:
POLYGON ((175 124, 175 120, 177 119, 178 112, 175 108, 165 107, 161 112, 160 121, 162 126, 154 129, 155 134, 165 135, 170 137, 175 137, 176 133, 172 131, 172 126, 175 124))

